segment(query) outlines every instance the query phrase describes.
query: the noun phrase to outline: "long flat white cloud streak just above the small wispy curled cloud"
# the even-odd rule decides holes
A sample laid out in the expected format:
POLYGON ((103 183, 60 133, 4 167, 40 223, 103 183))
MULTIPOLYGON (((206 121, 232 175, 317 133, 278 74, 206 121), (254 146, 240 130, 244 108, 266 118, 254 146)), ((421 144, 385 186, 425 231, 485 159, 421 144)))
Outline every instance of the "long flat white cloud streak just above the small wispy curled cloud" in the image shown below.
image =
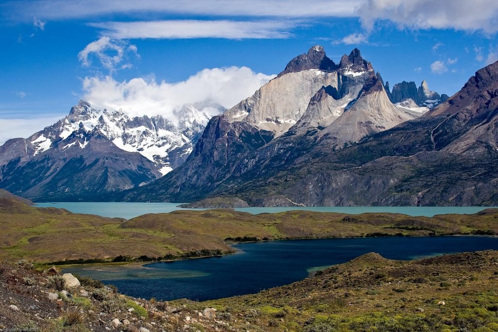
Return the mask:
POLYGON ((102 34, 115 39, 133 38, 288 38, 296 22, 263 20, 163 20, 91 23, 102 34))

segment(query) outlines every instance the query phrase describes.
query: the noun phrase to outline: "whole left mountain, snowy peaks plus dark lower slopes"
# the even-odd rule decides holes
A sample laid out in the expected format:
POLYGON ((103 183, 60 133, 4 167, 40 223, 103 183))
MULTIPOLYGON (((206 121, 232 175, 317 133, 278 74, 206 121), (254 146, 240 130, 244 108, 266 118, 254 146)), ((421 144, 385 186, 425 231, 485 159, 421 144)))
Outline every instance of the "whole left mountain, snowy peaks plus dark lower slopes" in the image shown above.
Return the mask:
POLYGON ((204 102, 183 105, 171 118, 132 117, 80 101, 57 123, 0 147, 0 188, 73 200, 143 185, 185 162, 209 119, 223 111, 204 102))

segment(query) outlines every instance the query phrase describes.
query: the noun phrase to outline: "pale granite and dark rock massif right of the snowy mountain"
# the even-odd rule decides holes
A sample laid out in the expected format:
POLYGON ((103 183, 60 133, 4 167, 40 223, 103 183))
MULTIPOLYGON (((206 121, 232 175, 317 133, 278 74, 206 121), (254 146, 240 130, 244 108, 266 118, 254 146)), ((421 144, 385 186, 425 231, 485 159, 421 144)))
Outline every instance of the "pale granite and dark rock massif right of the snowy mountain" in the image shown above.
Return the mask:
POLYGON ((497 72, 497 64, 480 70, 446 101, 424 83, 416 96, 390 92, 408 103, 441 103, 422 113, 420 104, 395 107, 359 50, 336 65, 314 46, 252 97, 213 117, 185 164, 117 199, 495 205, 497 72))

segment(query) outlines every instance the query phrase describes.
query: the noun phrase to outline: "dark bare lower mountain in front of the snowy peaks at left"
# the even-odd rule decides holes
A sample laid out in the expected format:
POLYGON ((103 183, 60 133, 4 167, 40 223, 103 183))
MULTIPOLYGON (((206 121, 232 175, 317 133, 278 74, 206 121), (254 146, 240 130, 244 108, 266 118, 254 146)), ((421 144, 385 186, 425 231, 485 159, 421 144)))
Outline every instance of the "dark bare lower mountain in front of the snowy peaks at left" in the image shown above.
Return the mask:
POLYGON ((160 177, 139 153, 121 150, 102 135, 84 130, 29 159, 12 159, 0 173, 2 188, 38 202, 85 200, 160 177))

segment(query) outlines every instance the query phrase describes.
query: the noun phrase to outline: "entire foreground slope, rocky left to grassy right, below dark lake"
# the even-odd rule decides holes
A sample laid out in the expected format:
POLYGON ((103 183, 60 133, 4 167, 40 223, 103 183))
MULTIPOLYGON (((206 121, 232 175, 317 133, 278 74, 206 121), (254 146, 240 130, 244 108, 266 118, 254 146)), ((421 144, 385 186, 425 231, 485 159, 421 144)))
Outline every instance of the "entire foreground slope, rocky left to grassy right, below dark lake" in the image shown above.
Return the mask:
POLYGON ((498 253, 492 250, 414 261, 369 253, 288 286, 207 302, 135 299, 78 278, 25 261, 0 264, 0 329, 498 331, 498 253))

